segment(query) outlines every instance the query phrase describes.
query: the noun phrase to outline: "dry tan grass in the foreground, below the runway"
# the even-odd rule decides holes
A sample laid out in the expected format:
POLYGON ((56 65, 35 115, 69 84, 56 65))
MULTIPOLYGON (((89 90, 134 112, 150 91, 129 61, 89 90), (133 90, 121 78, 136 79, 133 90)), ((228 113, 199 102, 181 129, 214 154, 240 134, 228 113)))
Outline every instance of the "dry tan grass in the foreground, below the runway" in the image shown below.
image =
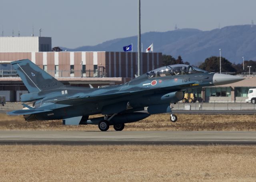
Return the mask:
POLYGON ((0 145, 0 181, 256 181, 256 146, 0 145))

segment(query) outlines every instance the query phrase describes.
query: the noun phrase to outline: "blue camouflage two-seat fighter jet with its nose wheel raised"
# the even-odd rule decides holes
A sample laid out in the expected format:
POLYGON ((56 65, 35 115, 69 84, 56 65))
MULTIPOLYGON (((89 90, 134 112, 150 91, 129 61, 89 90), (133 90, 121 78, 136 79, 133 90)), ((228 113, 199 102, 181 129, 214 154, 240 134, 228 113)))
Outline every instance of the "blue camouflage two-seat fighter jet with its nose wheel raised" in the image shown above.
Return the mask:
POLYGON ((62 120, 64 125, 96 124, 101 131, 136 122, 151 114, 170 113, 171 104, 184 98, 188 88, 229 84, 243 77, 207 72, 186 64, 164 66, 120 85, 105 88, 65 86, 28 59, 11 62, 28 94, 21 95, 26 109, 8 112, 26 121, 62 120), (146 108, 146 112, 145 112, 146 108), (90 115, 104 116, 89 119, 90 115))

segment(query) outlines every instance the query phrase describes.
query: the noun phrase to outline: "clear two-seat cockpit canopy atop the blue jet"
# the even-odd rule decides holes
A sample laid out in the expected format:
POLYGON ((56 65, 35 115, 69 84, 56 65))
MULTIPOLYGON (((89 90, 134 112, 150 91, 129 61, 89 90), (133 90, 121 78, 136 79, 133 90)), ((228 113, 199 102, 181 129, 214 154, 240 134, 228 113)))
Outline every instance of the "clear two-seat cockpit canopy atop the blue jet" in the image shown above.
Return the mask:
POLYGON ((192 74, 192 73, 202 73, 207 72, 205 70, 201 70, 194 66, 190 66, 187 64, 174 64, 169 66, 163 66, 161 68, 157 68, 150 72, 147 72, 148 78, 159 77, 159 76, 174 76, 174 75, 184 75, 184 74, 192 74))

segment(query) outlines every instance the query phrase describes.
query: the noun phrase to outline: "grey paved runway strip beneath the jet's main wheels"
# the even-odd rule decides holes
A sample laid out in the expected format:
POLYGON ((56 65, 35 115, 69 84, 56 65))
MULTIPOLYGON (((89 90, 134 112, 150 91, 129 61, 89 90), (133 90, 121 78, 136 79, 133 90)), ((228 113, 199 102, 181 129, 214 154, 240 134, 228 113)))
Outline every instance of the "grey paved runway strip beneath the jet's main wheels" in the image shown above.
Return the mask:
POLYGON ((0 131, 0 144, 256 144, 256 132, 0 131))

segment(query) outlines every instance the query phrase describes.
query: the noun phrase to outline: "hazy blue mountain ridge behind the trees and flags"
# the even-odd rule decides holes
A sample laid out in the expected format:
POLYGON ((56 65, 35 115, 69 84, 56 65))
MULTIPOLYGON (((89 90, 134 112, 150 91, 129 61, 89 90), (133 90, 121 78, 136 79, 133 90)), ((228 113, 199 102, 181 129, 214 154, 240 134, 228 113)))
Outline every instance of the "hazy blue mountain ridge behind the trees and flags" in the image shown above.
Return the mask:
MULTIPOLYGON (((221 48, 222 56, 230 62, 241 63, 245 60, 256 60, 256 26, 236 25, 221 29, 201 31, 184 28, 168 32, 147 32, 142 34, 141 42, 145 51, 154 42, 154 52, 170 54, 184 61, 198 65, 205 58, 218 56, 221 48)), ((137 51, 137 36, 117 38, 96 46, 82 46, 75 49, 62 48, 68 51, 123 51, 122 47, 133 43, 137 51)))

